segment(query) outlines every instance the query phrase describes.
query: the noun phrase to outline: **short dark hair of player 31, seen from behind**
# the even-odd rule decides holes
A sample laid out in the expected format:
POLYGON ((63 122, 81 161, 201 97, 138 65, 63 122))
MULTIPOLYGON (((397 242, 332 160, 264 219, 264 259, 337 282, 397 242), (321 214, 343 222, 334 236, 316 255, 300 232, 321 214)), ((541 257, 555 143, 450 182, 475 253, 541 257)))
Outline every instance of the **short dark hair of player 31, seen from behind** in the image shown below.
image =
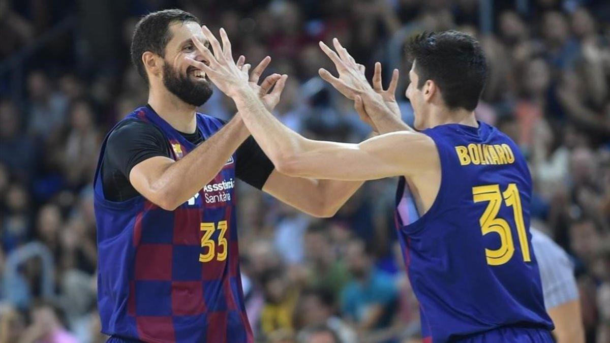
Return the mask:
POLYGON ((415 63, 417 89, 428 80, 440 88, 450 109, 474 110, 487 78, 483 49, 472 36, 459 31, 423 32, 406 45, 415 63))

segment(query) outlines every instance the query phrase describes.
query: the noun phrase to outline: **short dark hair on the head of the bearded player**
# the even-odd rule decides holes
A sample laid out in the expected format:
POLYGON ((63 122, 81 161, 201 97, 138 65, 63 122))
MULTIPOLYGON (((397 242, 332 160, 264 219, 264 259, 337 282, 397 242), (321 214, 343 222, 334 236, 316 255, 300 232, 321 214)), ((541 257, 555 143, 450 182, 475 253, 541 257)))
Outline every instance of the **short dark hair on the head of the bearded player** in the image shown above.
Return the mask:
POLYGON ((134 63, 138 73, 148 81, 142 54, 146 51, 164 57, 165 46, 171 40, 170 24, 194 21, 201 24, 199 19, 183 10, 172 9, 148 13, 135 25, 134 35, 131 38, 131 62, 134 63))

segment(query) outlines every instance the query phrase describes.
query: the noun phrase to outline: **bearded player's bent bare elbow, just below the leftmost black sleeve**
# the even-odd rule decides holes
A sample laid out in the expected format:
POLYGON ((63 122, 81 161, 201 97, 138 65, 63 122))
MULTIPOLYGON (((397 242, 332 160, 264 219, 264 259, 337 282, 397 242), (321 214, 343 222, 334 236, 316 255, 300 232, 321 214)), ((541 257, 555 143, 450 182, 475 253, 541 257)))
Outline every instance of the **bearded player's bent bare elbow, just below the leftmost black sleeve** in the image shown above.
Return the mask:
POLYGON ((157 204, 160 208, 171 209, 173 197, 169 187, 165 187, 163 173, 174 164, 174 160, 165 156, 155 156, 134 165, 129 172, 129 182, 143 197, 157 204))

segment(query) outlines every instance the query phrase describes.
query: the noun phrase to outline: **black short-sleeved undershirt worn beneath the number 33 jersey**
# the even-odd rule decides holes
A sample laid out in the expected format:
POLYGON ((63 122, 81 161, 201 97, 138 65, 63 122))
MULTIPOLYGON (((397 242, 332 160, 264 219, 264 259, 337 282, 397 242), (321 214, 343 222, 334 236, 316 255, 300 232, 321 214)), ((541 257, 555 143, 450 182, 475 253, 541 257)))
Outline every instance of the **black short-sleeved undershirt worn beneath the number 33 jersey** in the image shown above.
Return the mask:
MULTIPOLYGON (((204 141, 198 129, 192 134, 180 134, 194 145, 204 141)), ((170 149, 165 135, 152 123, 137 119, 121 123, 110 133, 104 151, 101 167, 104 197, 110 201, 125 201, 140 195, 129 182, 131 168, 151 157, 171 158, 170 149)), ((273 162, 252 136, 237 148, 236 153, 235 176, 262 189, 274 169, 273 162)))

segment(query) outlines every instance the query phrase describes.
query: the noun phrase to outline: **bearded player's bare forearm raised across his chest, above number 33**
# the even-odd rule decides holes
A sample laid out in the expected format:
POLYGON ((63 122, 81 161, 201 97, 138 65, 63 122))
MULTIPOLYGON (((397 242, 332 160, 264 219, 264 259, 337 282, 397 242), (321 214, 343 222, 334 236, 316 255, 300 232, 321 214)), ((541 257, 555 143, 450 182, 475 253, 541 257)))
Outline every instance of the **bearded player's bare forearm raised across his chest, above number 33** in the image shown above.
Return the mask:
POLYGON ((157 181, 162 207, 175 209, 192 198, 218 174, 248 135, 237 114, 210 139, 171 164, 157 181))

